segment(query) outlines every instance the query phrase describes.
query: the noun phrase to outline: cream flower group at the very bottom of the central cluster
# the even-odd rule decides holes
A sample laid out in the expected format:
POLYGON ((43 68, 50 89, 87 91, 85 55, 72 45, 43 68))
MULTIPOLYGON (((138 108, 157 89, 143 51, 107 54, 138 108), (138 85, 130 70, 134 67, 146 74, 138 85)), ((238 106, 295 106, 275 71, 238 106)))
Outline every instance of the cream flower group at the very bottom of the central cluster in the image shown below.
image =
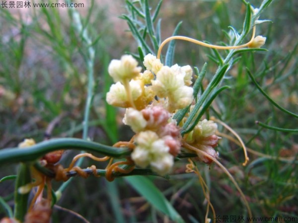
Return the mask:
POLYGON ((168 173, 174 164, 174 158, 169 153, 169 147, 155 132, 144 131, 136 136, 136 148, 132 159, 143 168, 150 165, 153 171, 160 175, 168 173))

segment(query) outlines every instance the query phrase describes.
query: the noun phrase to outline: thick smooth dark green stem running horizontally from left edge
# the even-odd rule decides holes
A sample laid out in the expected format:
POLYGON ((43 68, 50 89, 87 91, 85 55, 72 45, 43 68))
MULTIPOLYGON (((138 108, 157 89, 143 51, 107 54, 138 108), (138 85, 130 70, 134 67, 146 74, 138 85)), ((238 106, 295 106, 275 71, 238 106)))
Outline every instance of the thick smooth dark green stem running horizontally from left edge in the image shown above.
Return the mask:
POLYGON ((34 161, 48 152, 59 149, 79 149, 88 152, 98 152, 111 157, 125 157, 131 153, 131 149, 127 148, 114 148, 75 138, 60 138, 44 141, 28 148, 1 149, 0 165, 12 162, 34 161))

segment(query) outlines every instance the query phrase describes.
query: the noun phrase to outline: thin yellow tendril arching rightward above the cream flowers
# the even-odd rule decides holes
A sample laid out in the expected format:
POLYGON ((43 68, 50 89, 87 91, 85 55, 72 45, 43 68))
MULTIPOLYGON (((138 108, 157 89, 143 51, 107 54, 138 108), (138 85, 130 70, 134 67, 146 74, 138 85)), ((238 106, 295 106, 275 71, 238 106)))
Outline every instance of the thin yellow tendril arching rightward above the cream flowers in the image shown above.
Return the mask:
POLYGON ((208 43, 204 43, 202 41, 190 38, 190 37, 186 37, 186 36, 171 36, 167 39, 165 39, 159 46, 158 51, 157 51, 157 59, 160 59, 160 54, 161 54, 161 50, 164 47, 165 44, 167 44, 169 41, 171 40, 185 40, 188 42, 192 42, 194 44, 200 45, 200 46, 204 46, 204 47, 208 47, 208 48, 213 48, 213 49, 218 49, 218 50, 231 50, 231 49, 239 49, 239 48, 244 48, 247 47, 248 45, 250 45, 254 38, 255 38, 255 33, 256 33, 256 27, 254 26, 252 29, 252 37, 250 39, 250 41, 248 43, 239 45, 239 46, 218 46, 218 45, 213 45, 213 44, 208 44, 208 43))

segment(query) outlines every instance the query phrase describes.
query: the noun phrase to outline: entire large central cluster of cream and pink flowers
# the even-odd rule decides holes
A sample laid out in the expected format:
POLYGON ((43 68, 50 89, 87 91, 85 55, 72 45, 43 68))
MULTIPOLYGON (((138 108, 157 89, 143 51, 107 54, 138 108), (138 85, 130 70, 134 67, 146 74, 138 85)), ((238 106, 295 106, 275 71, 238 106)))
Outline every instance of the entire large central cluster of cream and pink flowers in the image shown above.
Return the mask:
POLYGON ((108 71, 116 82, 106 95, 109 104, 127 108, 123 122, 136 133, 132 159, 141 167, 150 166, 160 175, 168 173, 180 152, 181 135, 171 115, 192 103, 190 66, 163 66, 149 54, 141 73, 132 56, 112 60, 108 71))

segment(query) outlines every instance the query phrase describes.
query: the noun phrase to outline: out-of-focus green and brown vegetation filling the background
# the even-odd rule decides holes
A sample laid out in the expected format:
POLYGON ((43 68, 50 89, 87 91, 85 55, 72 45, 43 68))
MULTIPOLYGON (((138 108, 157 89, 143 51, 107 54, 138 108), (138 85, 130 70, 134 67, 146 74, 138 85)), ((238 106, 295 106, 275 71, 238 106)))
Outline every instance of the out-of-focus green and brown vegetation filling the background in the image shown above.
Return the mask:
MULTIPOLYGON (((258 6, 258 0, 251 0, 258 6)), ((119 3, 119 16, 124 3, 119 3)), ((156 0, 150 4, 156 5, 156 0)), ((111 59, 125 51, 137 53, 137 45, 127 27, 122 30, 111 21, 109 5, 99 2, 85 4, 81 11, 84 27, 93 40, 95 50, 94 78, 96 82, 90 111, 88 137, 92 141, 112 145, 127 140, 130 130, 122 125, 122 110, 105 103, 111 79, 107 66, 111 59), (121 33, 119 35, 119 33, 121 33), (125 38, 125 40, 123 40, 125 38)), ((82 137, 82 120, 87 95, 87 67, 82 36, 74 27, 68 10, 42 8, 30 13, 0 8, 0 148, 15 147, 24 138, 37 142, 49 136, 82 137), (46 135, 45 135, 46 134, 46 135)), ((278 104, 292 112, 298 105, 298 1, 276 0, 261 15, 272 23, 258 26, 257 35, 267 37, 267 52, 241 54, 229 71, 224 91, 210 109, 232 127, 253 151, 246 167, 241 149, 222 139, 219 145, 221 162, 232 173, 249 201, 253 216, 298 217, 297 134, 261 128, 255 121, 271 126, 295 129, 297 119, 281 112, 258 91, 249 76, 249 68, 257 82, 278 104), (294 157, 283 161, 278 157, 294 157)), ((179 21, 179 35, 227 42, 228 26, 241 29, 245 7, 235 0, 164 0, 161 37, 170 36, 179 21)), ((119 19, 120 20, 120 19, 119 19)), ((123 22, 123 21, 122 21, 123 22)), ((208 62, 204 84, 208 83, 218 65, 213 51, 191 43, 177 41, 174 63, 197 66, 208 62)), ((220 126, 220 125, 219 125, 220 126)), ((224 128, 220 132, 228 134, 224 128)), ((62 163, 74 156, 68 151, 62 163)), ((84 160, 84 165, 92 162, 84 160)), ((201 174, 211 191, 211 201, 217 215, 245 214, 238 192, 217 166, 199 164, 201 174)), ((206 204, 197 177, 184 173, 184 163, 175 165, 169 180, 150 177, 173 204, 186 222, 203 222, 206 204)), ((16 173, 16 165, 1 166, 0 178, 16 173)), ((61 183, 55 183, 54 189, 61 183)), ((12 205, 14 181, 0 183, 0 196, 12 205)), ((104 178, 75 178, 63 194, 59 206, 73 210, 92 223, 162 222, 163 214, 151 207, 146 199, 128 184, 125 178, 107 182, 104 178)), ((0 217, 4 212, 0 210, 0 217)), ((166 221, 166 220, 164 220, 166 221)), ((52 222, 81 222, 73 214, 54 208, 52 222)))

